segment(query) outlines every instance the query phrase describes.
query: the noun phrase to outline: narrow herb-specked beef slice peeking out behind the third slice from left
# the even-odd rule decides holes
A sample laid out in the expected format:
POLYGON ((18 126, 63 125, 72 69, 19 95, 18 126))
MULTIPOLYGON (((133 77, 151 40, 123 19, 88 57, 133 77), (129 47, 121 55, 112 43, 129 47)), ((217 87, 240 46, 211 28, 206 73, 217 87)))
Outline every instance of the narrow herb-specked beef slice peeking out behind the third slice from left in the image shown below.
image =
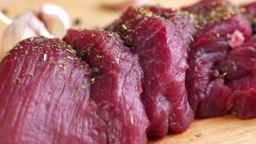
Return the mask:
POLYGON ((197 31, 197 22, 194 19, 194 15, 180 10, 172 10, 163 7, 146 6, 143 8, 171 20, 171 22, 175 25, 177 32, 181 35, 182 41, 184 42, 184 46, 186 48, 185 57, 187 59, 188 54, 190 53, 190 44, 194 41, 193 37, 197 31))

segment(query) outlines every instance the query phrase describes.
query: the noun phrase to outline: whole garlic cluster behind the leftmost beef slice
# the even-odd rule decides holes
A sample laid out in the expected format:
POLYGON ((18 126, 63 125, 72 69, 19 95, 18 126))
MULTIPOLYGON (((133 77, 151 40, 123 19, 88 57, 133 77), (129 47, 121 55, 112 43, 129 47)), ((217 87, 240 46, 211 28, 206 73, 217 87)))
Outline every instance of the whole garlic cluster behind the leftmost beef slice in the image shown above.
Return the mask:
POLYGON ((8 24, 0 43, 0 60, 22 39, 31 36, 62 38, 70 28, 68 14, 53 4, 43 4, 38 12, 29 10, 14 20, 0 13, 0 20, 8 24))

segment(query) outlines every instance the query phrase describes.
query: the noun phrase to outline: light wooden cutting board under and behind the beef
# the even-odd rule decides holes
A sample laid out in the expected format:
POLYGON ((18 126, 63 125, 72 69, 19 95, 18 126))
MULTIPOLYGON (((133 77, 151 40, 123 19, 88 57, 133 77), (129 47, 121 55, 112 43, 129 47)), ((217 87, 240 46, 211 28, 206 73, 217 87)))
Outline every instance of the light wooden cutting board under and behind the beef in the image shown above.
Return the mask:
MULTIPOLYGON (((118 1, 118 0, 117 0, 118 1)), ((196 0, 151 0, 164 7, 180 7, 196 0)), ((230 0, 235 4, 253 0, 230 0)), ((73 28, 102 28, 112 23, 122 13, 102 8, 102 0, 0 0, 0 10, 6 10, 10 18, 27 9, 36 9, 41 3, 56 3, 70 15, 73 28), (79 25, 73 24, 80 20, 79 25)), ((0 22, 0 38, 6 25, 0 22)), ((240 120, 235 115, 221 118, 194 120, 183 134, 168 134, 161 139, 150 139, 149 144, 256 144, 256 118, 240 120), (200 137, 195 135, 202 133, 200 137)))

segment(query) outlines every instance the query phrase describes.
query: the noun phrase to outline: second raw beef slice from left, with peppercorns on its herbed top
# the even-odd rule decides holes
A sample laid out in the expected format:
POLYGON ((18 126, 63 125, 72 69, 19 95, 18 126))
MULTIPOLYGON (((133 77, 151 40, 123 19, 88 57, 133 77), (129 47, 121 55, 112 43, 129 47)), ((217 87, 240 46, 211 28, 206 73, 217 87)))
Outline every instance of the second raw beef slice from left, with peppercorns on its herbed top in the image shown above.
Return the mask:
POLYGON ((107 124, 108 143, 146 144, 148 117, 141 101, 142 69, 116 33, 103 30, 68 30, 64 40, 92 69, 98 69, 91 98, 107 124))

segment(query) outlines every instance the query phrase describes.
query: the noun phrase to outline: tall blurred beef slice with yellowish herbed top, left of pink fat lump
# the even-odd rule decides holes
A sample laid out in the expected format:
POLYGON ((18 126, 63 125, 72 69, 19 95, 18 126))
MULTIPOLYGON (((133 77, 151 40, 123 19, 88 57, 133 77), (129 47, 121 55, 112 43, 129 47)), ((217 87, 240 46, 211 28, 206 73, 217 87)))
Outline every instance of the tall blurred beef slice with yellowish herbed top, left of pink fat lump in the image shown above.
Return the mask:
POLYGON ((230 42, 232 36, 241 33, 248 39, 251 26, 224 0, 202 0, 182 10, 194 14, 198 21, 198 34, 194 37, 186 73, 189 103, 196 118, 226 115, 228 108, 223 105, 230 90, 223 81, 226 73, 220 73, 216 65, 230 52, 230 44, 237 44, 230 42))

